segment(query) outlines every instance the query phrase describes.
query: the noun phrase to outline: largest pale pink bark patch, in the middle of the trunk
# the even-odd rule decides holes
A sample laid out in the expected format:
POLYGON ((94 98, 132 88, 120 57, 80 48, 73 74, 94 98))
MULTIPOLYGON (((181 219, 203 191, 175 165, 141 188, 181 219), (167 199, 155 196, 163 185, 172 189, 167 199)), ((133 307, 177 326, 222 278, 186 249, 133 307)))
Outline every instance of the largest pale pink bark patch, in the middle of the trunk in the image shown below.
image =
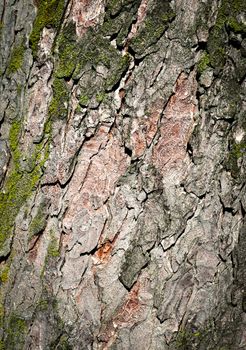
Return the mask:
MULTIPOLYGON (((69 201, 63 220, 65 232, 69 234, 66 244, 72 246, 79 241, 81 252, 91 251, 98 245, 108 217, 105 203, 129 165, 129 157, 118 138, 108 131, 101 127, 95 137, 85 143, 66 195, 69 201)), ((107 252, 101 253, 104 259, 107 252)))

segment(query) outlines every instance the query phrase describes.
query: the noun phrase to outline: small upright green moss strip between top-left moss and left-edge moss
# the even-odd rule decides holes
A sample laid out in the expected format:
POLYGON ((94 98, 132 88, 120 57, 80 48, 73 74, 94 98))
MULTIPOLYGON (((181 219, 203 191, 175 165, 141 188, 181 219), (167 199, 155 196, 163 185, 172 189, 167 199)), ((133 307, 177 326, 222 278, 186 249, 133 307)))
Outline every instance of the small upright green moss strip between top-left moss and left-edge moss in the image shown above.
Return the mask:
POLYGON ((65 119, 68 112, 69 90, 64 79, 55 78, 52 84, 53 98, 49 106, 52 119, 65 119))

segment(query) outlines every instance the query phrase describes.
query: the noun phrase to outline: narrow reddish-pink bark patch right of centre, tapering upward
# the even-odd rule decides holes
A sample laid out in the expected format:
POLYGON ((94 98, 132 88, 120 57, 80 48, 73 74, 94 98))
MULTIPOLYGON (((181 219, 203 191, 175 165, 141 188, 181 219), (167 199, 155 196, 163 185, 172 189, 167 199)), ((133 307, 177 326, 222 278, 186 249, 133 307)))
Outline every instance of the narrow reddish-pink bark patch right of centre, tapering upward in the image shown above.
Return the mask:
POLYGON ((197 82, 195 74, 181 73, 175 93, 170 98, 160 125, 160 138, 153 149, 152 161, 161 173, 179 167, 186 155, 190 138, 196 103, 197 82))

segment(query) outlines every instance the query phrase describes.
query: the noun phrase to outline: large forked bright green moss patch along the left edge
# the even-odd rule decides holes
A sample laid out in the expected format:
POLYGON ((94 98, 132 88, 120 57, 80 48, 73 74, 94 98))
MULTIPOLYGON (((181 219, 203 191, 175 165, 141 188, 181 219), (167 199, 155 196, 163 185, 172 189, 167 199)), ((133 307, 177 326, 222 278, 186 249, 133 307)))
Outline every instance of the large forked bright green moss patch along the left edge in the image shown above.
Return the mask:
POLYGON ((32 155, 28 157, 32 159, 32 169, 26 171, 22 166, 23 155, 18 146, 20 135, 21 122, 14 121, 9 133, 11 170, 7 175, 3 191, 0 192, 0 250, 3 255, 9 252, 9 239, 12 236, 15 218, 42 176, 42 166, 49 147, 48 143, 44 145, 44 141, 35 146, 32 155))

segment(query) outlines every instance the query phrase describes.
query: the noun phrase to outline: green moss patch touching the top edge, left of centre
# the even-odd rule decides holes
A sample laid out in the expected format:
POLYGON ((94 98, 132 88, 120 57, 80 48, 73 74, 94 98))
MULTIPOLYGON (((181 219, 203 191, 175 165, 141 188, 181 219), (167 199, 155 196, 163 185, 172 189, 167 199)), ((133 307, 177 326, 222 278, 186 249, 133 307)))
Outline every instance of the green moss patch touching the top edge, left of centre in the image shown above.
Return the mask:
POLYGON ((33 55, 37 55, 38 43, 44 27, 58 29, 65 10, 66 0, 39 0, 38 12, 30 35, 30 46, 33 55))

